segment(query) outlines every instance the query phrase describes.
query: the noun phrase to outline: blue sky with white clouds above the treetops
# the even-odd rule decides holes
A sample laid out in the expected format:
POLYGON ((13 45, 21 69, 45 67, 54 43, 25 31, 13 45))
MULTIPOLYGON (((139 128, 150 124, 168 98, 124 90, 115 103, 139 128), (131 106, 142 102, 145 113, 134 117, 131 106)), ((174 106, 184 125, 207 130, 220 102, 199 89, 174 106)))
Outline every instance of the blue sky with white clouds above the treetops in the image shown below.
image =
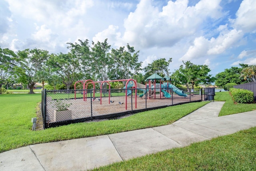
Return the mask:
POLYGON ((0 47, 67 53, 67 43, 108 38, 134 46, 142 67, 172 58, 210 74, 256 65, 256 0, 0 0, 0 47))

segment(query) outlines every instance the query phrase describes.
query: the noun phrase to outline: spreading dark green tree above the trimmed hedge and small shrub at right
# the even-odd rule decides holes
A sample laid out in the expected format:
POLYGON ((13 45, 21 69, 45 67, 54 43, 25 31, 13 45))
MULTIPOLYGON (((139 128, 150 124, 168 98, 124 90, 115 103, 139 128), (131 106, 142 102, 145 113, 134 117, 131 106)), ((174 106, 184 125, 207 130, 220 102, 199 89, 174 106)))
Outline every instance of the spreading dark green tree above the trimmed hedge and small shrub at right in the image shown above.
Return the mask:
POLYGON ((242 78, 240 78, 242 70, 243 68, 238 67, 231 67, 229 69, 225 69, 224 72, 216 74, 215 85, 223 88, 228 83, 241 84, 246 82, 245 80, 242 80, 242 78))

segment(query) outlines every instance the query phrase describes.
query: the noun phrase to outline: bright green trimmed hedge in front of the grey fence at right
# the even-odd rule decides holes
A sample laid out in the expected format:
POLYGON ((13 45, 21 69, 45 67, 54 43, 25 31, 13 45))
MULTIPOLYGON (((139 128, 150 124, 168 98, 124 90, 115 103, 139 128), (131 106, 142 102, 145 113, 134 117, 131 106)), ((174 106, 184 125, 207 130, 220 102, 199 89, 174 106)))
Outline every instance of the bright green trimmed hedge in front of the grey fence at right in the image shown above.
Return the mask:
POLYGON ((237 103, 253 103, 254 94, 247 89, 230 88, 231 95, 237 103))

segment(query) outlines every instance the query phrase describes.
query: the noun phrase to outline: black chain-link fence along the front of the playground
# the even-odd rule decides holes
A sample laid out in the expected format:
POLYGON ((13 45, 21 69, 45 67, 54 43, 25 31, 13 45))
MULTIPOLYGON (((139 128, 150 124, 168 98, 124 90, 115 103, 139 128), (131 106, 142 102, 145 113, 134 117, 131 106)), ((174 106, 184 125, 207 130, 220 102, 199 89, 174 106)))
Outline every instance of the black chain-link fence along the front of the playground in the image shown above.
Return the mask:
MULTIPOLYGON (((208 93, 205 89, 204 93, 202 89, 179 89, 187 97, 178 95, 172 88, 165 89, 165 92, 154 88, 137 89, 137 94, 135 89, 128 89, 127 99, 126 89, 45 89, 42 91, 41 105, 44 129, 98 119, 115 119, 142 111, 198 102, 202 101, 204 93, 208 93)), ((204 100, 208 100, 205 97, 204 100)))

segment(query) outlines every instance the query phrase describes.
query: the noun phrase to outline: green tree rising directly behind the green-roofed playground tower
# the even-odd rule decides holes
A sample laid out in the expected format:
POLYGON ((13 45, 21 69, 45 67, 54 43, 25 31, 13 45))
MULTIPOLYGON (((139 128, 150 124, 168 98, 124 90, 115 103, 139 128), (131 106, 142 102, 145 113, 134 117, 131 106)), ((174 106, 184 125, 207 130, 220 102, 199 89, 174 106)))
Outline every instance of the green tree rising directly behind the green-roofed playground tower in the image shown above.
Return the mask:
POLYGON ((146 72, 145 76, 150 76, 156 73, 162 77, 164 76, 170 77, 170 73, 169 73, 170 70, 168 69, 168 67, 171 62, 172 62, 172 58, 169 58, 168 61, 166 61, 165 58, 154 60, 152 64, 148 64, 148 66, 144 68, 144 71, 146 72))

